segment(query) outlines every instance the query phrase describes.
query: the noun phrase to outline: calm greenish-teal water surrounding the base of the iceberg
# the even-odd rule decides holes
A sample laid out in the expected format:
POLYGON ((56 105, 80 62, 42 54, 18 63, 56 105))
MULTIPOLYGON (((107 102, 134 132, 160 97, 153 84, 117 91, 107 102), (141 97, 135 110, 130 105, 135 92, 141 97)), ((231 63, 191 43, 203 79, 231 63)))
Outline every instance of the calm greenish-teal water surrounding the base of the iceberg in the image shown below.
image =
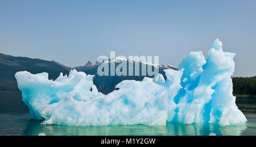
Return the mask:
POLYGON ((237 105, 248 122, 243 126, 220 127, 213 124, 168 123, 167 126, 148 127, 64 127, 43 126, 30 120, 29 111, 21 101, 21 93, 0 93, 0 135, 256 135, 256 98, 237 97, 237 105))

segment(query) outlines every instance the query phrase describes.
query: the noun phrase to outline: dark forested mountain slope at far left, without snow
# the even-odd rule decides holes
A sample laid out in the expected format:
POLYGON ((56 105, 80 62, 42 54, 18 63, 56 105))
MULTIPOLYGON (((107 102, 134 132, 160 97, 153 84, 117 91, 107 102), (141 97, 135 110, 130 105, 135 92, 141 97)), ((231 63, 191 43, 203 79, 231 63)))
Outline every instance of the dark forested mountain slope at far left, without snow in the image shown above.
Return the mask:
POLYGON ((55 80, 60 72, 68 74, 69 71, 51 61, 31 59, 26 57, 13 57, 0 53, 0 91, 18 91, 15 73, 28 71, 32 74, 47 72, 49 79, 55 80))

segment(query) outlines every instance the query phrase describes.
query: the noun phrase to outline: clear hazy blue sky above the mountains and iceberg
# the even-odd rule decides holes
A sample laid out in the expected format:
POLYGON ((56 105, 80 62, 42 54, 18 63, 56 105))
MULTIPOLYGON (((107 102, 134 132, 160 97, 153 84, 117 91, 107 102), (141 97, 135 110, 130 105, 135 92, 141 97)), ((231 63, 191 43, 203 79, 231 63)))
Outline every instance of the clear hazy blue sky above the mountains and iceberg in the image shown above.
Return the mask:
POLYGON ((216 38, 237 54, 234 76, 256 75, 255 0, 0 1, 0 53, 69 67, 110 51, 178 66, 190 51, 207 58, 216 38))

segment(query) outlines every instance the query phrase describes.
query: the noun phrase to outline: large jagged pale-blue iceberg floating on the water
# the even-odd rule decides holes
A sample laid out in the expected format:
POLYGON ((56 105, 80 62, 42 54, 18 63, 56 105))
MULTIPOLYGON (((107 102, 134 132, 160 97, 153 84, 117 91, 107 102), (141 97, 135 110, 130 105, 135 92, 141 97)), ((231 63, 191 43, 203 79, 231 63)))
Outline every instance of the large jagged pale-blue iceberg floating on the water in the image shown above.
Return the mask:
POLYGON ((201 51, 189 53, 179 70, 143 81, 125 80, 104 95, 93 84, 93 75, 72 70, 69 76, 48 80, 48 74, 15 74, 22 100, 32 119, 63 126, 108 126, 166 122, 244 124, 247 120, 232 94, 234 53, 225 53, 216 39, 205 60, 201 51), (92 90, 90 90, 92 89, 92 90))

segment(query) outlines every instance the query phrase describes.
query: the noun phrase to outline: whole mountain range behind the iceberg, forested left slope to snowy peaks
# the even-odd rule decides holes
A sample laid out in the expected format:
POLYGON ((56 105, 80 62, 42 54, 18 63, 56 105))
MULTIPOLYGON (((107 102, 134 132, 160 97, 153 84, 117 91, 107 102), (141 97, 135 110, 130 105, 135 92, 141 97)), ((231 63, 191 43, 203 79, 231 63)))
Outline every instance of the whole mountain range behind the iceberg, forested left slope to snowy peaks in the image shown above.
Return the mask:
MULTIPOLYGON (((123 58, 115 58, 108 60, 99 60, 96 63, 88 61, 84 66, 79 67, 67 67, 61 63, 56 62, 55 60, 47 61, 41 59, 31 59, 26 57, 13 57, 11 55, 0 54, 0 91, 18 91, 18 87, 16 84, 16 79, 14 77, 15 73, 18 71, 28 71, 32 74, 38 74, 41 72, 47 72, 49 74, 49 79, 55 80, 60 72, 63 74, 68 74, 70 70, 76 69, 77 71, 85 72, 89 75, 95 75, 93 77, 93 83, 96 85, 99 92, 108 94, 115 90, 115 86, 123 80, 137 80, 142 81, 145 76, 142 76, 142 72, 139 72, 139 76, 100 76, 97 73, 98 67, 101 64, 108 64, 110 69, 110 64, 115 64, 117 67, 122 62, 127 62, 127 69, 129 67, 129 63, 133 64, 133 69, 135 72, 135 64, 139 64, 139 71, 141 71, 144 65, 149 63, 142 63, 134 60, 128 60, 123 58)), ((159 68, 159 73, 165 76, 165 72, 163 70, 171 68, 177 70, 176 67, 171 65, 152 65, 152 70, 159 68)), ((127 70, 126 69, 126 70, 127 70)), ((125 70, 125 69, 124 69, 125 70)), ((110 75, 110 71, 109 71, 110 75)), ((152 77, 146 75, 147 77, 152 77)))

